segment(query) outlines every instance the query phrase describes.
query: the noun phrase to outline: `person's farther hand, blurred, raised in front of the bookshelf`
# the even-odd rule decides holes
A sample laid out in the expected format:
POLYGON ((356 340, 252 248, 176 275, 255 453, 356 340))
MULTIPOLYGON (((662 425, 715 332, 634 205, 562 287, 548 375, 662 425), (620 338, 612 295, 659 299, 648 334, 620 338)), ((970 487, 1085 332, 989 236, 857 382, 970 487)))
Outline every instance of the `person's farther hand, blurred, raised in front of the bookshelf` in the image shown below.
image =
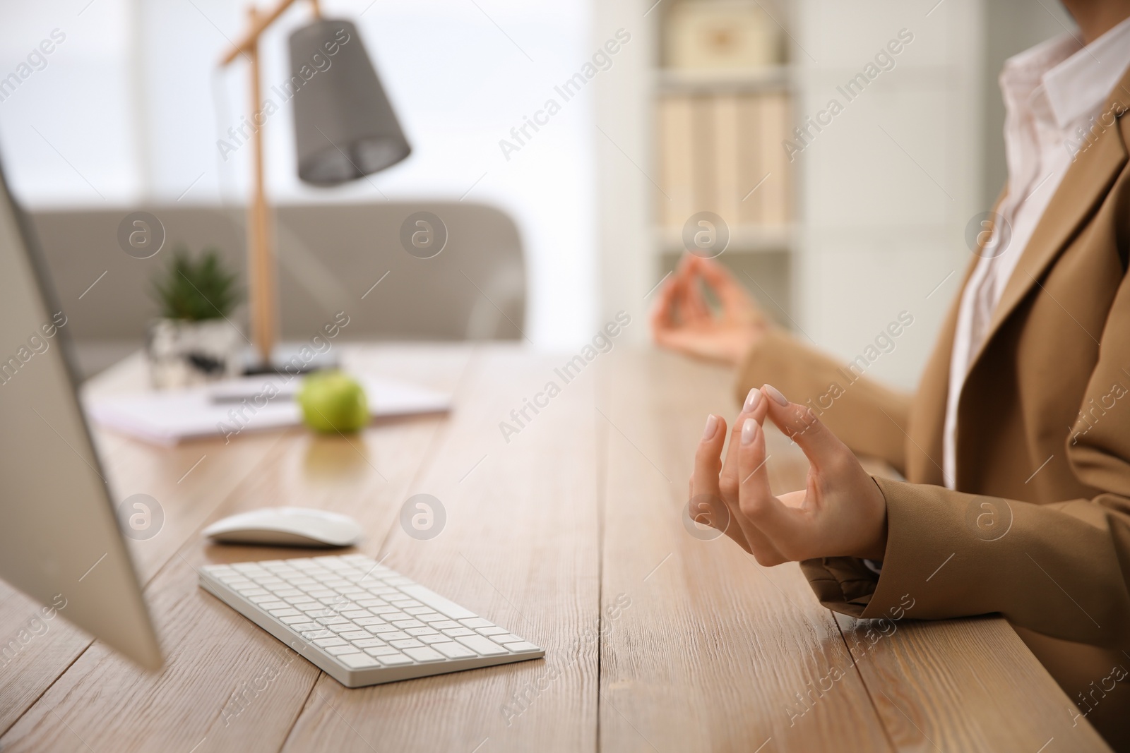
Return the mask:
POLYGON ((663 286, 651 317, 652 335, 663 348, 737 366, 768 327, 765 315, 724 268, 688 254, 663 286), (705 284, 718 298, 714 313, 705 284))

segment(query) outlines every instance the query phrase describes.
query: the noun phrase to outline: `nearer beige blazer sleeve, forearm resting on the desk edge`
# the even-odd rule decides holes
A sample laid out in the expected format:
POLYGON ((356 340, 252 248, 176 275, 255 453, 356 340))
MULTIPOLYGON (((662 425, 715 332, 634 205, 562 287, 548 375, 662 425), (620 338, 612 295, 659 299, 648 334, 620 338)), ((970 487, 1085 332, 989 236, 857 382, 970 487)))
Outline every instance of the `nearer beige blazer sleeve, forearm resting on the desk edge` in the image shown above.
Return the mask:
POLYGON ((1130 647, 1130 499, 1034 505, 875 479, 887 500, 881 575, 861 560, 801 563, 820 603, 857 618, 999 612, 1036 632, 1130 647))

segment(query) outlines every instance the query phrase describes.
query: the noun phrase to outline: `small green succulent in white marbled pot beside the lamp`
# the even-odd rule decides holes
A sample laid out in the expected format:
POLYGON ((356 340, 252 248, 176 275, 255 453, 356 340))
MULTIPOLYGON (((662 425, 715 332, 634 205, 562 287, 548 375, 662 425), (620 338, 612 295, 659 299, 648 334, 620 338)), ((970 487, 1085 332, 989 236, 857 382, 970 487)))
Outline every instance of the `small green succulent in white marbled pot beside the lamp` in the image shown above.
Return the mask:
POLYGON ((185 246, 173 251, 153 281, 160 306, 146 338, 154 387, 186 387, 240 375, 243 334, 231 315, 242 295, 217 248, 205 248, 195 259, 185 246))

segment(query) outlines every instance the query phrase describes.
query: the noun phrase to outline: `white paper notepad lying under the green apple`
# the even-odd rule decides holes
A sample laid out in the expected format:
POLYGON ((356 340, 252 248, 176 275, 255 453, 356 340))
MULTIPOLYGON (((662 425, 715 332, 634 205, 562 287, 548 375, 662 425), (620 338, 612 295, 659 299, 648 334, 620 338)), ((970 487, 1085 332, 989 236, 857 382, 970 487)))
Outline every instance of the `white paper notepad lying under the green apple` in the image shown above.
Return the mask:
MULTIPOLYGON (((355 378, 365 388, 374 418, 451 410, 446 393, 391 379, 355 378)), ((299 384, 301 378, 244 377, 207 387, 92 399, 86 409, 101 426, 158 445, 175 445, 185 439, 297 426, 302 410, 294 395, 299 384)))

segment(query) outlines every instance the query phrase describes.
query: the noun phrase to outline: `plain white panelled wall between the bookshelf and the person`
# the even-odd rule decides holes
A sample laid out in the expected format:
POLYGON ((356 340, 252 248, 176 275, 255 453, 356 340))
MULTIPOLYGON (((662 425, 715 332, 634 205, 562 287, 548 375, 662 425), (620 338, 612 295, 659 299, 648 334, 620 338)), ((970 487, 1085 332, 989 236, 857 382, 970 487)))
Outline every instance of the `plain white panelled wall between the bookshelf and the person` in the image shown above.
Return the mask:
POLYGON ((971 259, 965 225, 984 208, 982 33, 981 0, 799 6, 796 120, 832 98, 844 105, 797 156, 801 336, 846 361, 905 310, 914 324, 869 371, 905 388, 916 384, 971 259), (836 87, 904 28, 913 41, 895 68, 849 103, 836 87))

